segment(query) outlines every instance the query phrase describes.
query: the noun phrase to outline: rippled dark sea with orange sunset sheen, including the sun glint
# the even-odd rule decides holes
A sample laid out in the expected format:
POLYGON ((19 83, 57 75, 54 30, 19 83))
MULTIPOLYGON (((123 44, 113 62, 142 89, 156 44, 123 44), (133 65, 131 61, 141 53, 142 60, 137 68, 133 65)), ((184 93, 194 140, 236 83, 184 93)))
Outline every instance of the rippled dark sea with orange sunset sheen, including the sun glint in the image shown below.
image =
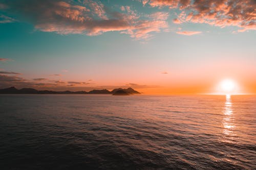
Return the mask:
POLYGON ((0 169, 256 169, 256 96, 0 95, 0 169))

